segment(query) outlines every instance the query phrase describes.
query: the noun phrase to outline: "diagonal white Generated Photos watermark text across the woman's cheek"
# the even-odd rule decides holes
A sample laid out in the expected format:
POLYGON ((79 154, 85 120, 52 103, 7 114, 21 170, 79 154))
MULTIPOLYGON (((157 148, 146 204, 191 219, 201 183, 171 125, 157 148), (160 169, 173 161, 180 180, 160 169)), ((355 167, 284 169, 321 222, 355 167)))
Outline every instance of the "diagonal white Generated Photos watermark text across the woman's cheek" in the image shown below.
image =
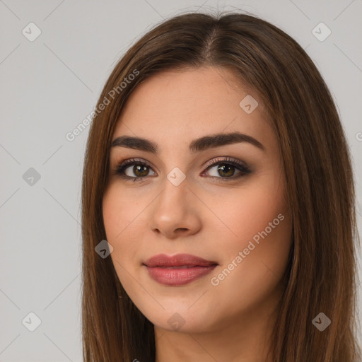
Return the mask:
MULTIPOLYGON (((283 220, 284 220, 284 215, 279 214, 276 218, 274 218, 273 221, 269 222, 268 226, 263 231, 260 231, 259 233, 255 234, 252 237, 252 240, 257 245, 259 245, 261 241, 260 238, 264 240, 264 238, 266 238, 267 235, 271 233, 271 231, 275 229, 276 226, 278 226, 279 223, 283 220)), ((231 273, 231 271, 233 271, 235 267, 238 267, 238 265, 241 262, 243 262, 243 260, 247 257, 247 255, 249 255, 250 252, 255 249, 257 245, 252 243, 252 240, 249 241, 247 247, 245 247, 242 252, 241 251, 238 252, 238 255, 236 255, 236 257, 230 262, 230 264, 228 264, 228 266, 225 269, 223 269, 223 271, 221 271, 221 273, 219 273, 217 276, 213 276, 210 279, 210 282, 213 286, 218 286, 220 284, 220 281, 223 281, 231 273)))

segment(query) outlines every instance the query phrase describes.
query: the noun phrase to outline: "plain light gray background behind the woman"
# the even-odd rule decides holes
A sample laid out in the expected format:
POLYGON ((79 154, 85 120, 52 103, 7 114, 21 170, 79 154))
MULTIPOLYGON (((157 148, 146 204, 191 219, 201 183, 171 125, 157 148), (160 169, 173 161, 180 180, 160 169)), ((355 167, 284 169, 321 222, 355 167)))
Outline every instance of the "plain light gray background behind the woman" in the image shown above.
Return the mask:
POLYGON ((88 129, 74 141, 65 135, 93 110, 117 59, 151 26, 214 8, 274 23, 322 72, 354 157, 361 230, 361 0, 0 0, 0 361, 81 361, 80 198, 88 129), (33 42, 22 33, 35 35, 30 22, 41 30, 33 42), (332 30, 324 41, 312 33, 320 22, 332 30), (28 178, 29 168, 39 180, 28 178), (35 327, 30 312, 41 320, 34 332, 25 327, 35 327))

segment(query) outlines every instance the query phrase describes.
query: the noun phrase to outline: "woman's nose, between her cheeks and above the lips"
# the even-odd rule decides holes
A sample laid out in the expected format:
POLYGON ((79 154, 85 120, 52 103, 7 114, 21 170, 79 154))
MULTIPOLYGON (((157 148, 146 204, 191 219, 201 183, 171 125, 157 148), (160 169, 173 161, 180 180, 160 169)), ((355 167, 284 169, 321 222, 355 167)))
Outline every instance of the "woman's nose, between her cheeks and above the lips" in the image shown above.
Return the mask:
POLYGON ((187 178, 177 186, 165 179, 163 185, 163 191, 151 204, 150 230, 169 239, 197 233, 202 226, 201 205, 189 189, 187 178))

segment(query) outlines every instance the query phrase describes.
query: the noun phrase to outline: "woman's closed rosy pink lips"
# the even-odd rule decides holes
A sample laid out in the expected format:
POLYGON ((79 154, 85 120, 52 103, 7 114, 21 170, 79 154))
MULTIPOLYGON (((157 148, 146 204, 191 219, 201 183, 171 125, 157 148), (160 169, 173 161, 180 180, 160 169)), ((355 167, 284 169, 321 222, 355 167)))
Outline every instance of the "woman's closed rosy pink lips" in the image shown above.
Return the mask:
POLYGON ((209 274, 218 265, 190 254, 158 254, 144 262, 149 276, 166 286, 182 286, 209 274))

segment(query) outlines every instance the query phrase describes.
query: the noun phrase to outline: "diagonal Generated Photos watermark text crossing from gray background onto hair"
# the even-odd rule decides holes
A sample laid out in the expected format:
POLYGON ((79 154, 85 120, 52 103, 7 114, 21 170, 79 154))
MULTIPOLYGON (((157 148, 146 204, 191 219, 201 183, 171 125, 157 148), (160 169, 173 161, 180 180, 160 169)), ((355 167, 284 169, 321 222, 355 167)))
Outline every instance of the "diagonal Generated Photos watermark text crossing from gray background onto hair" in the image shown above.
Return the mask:
POLYGON ((105 98, 103 98, 103 101, 100 102, 97 107, 94 107, 92 112, 89 113, 89 115, 86 118, 84 118, 82 122, 78 123, 78 125, 71 132, 66 132, 65 134, 66 140, 69 142, 74 141, 74 139, 76 139, 76 136, 79 136, 79 134, 81 134, 81 132, 83 132, 84 129, 86 129, 86 127, 88 127, 89 124, 91 124, 94 116, 99 115, 100 112, 105 110, 105 107, 107 107, 107 105, 111 103, 110 98, 114 100, 116 94, 118 95, 119 93, 121 93, 124 90, 124 88, 127 87, 127 84, 130 84, 134 80, 134 78, 136 78, 136 76, 138 75, 139 71, 137 69, 134 69, 134 71, 132 71, 131 74, 129 74, 127 77, 124 77, 123 81, 119 84, 119 86, 109 91, 107 95, 105 95, 105 98))

